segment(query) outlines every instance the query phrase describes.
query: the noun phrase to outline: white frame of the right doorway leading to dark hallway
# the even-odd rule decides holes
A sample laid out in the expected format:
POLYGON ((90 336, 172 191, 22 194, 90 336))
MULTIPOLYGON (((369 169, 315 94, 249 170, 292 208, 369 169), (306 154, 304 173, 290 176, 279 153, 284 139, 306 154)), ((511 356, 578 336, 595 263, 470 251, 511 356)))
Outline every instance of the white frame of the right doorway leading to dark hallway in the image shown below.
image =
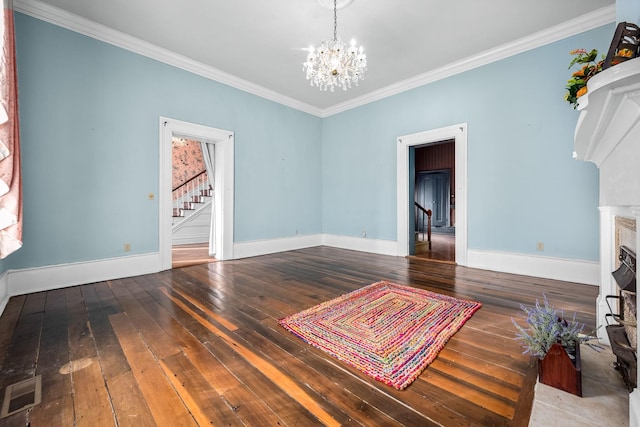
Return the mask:
MULTIPOLYGON (((452 141, 455 155, 455 170, 450 175, 452 185, 449 194, 449 224, 438 231, 455 231, 452 252, 455 263, 467 265, 467 124, 419 132, 397 138, 396 145, 396 189, 397 189, 397 253, 408 256, 415 250, 415 188, 416 149, 422 146, 452 141), (453 228, 455 227, 455 228, 453 228), (450 230, 449 230, 450 229, 450 230)), ((438 172, 438 170, 434 170, 438 172)), ((446 221, 446 214, 442 215, 446 221)), ((435 229, 435 227, 434 227, 435 229)), ((444 237, 447 234, 442 233, 444 237)), ((435 234, 434 234, 435 236, 435 234)))

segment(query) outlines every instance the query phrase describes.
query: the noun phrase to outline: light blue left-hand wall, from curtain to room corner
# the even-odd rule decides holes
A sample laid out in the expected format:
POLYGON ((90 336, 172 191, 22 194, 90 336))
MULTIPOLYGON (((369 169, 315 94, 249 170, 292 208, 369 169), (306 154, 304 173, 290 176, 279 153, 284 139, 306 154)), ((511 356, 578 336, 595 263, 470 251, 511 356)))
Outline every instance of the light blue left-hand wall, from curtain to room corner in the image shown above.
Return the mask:
POLYGON ((235 132, 236 242, 321 232, 321 119, 19 13, 16 44, 24 246, 4 267, 157 252, 160 116, 235 132))

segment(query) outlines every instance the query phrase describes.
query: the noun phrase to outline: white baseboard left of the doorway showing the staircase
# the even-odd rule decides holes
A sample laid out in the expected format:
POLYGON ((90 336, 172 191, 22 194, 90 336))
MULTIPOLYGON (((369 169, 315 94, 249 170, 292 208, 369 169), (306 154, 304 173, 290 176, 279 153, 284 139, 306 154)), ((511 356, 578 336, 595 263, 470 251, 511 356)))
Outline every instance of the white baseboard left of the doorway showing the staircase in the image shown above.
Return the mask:
POLYGON ((159 270, 160 254, 158 253, 9 270, 7 290, 11 297, 156 273, 159 270))

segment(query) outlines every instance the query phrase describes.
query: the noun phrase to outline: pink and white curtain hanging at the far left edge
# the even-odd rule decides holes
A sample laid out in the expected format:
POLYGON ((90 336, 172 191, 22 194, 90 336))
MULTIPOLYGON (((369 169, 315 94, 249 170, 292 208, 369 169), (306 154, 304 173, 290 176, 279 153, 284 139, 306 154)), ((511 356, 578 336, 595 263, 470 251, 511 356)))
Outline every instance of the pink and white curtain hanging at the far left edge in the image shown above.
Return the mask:
POLYGON ((0 258, 5 258, 22 246, 22 187, 13 1, 1 1, 0 258))

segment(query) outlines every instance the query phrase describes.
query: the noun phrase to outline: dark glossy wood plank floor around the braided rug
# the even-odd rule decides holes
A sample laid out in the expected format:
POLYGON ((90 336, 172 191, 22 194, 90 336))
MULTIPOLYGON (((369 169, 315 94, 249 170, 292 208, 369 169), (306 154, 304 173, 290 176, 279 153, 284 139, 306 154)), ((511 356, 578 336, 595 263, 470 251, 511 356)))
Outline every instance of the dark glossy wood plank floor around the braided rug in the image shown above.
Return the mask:
POLYGON ((42 375, 42 403, 0 425, 525 426, 511 317, 543 293, 593 327, 593 286, 328 247, 13 297, 0 390, 42 375), (404 391, 277 324, 382 279, 483 303, 404 391))

